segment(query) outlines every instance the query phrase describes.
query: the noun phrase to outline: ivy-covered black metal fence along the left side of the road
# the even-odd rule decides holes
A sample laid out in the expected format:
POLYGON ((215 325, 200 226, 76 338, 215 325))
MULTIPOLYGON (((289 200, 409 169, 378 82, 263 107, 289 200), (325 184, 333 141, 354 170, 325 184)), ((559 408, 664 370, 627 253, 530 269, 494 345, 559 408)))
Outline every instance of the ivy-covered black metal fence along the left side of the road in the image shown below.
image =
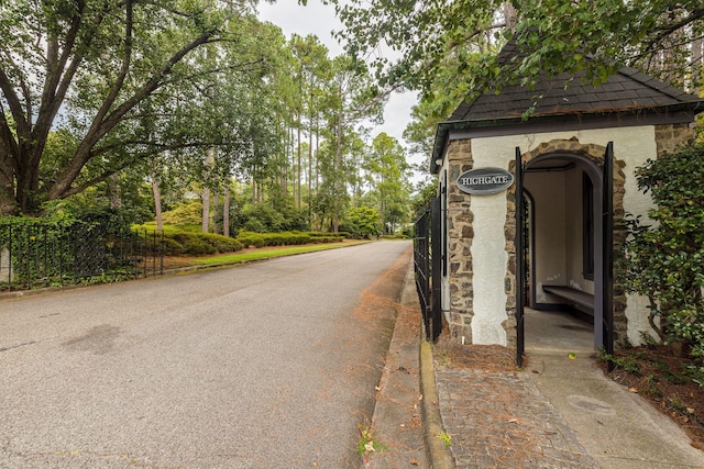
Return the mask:
POLYGON ((0 221, 0 291, 162 275, 163 247, 160 232, 0 221))

